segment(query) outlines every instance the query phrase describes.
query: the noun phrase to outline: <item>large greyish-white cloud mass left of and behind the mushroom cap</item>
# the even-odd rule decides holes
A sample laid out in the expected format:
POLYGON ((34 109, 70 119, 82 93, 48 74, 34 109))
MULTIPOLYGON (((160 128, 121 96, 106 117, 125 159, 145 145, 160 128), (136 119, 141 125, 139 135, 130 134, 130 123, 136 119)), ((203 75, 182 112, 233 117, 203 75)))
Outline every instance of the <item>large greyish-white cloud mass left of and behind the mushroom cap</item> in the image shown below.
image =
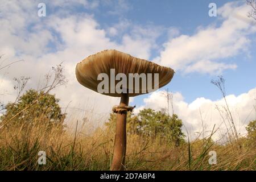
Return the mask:
MULTIPOLYGON (((68 117, 73 121, 81 119, 86 113, 86 117, 88 115, 98 119, 100 117, 103 123, 112 106, 119 103, 119 98, 103 96, 80 85, 75 76, 76 64, 86 56, 102 49, 112 48, 148 59, 156 36, 145 38, 142 34, 146 30, 143 27, 134 27, 133 31, 126 32, 122 36, 121 43, 118 43, 108 38, 107 31, 101 28, 93 15, 73 13, 63 16, 56 11, 54 14, 40 18, 37 16, 37 3, 37 1, 7 1, 0 7, 0 54, 5 53, 3 59, 9 62, 24 60, 24 63, 13 64, 0 71, 1 75, 5 74, 5 77, 1 76, 0 79, 2 82, 0 92, 5 94, 5 98, 1 97, 1 101, 6 103, 15 99, 11 86, 15 84, 13 77, 32 77, 27 89, 36 89, 39 81, 43 81, 44 75, 51 70, 51 67, 63 61, 65 74, 69 80, 68 85, 57 88, 52 93, 60 98, 62 107, 70 107, 68 117), (10 94, 10 97, 6 97, 6 94, 10 94)), ((53 6, 72 5, 68 1, 63 3, 55 2, 53 6)), ((47 6, 49 5, 52 5, 51 2, 47 2, 47 6)), ((89 5, 85 3, 85 6, 89 5)))

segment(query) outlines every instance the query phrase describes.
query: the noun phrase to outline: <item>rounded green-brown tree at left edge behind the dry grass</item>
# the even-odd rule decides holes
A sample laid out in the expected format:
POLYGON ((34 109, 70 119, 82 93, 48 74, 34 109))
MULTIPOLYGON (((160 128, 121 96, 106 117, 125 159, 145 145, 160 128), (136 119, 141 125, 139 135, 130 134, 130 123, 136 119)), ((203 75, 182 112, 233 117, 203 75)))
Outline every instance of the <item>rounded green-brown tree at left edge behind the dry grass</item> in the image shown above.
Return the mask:
POLYGON ((38 121, 48 122, 51 126, 63 125, 65 114, 61 113, 58 102, 55 95, 30 89, 19 97, 18 102, 7 104, 0 119, 3 124, 38 121))

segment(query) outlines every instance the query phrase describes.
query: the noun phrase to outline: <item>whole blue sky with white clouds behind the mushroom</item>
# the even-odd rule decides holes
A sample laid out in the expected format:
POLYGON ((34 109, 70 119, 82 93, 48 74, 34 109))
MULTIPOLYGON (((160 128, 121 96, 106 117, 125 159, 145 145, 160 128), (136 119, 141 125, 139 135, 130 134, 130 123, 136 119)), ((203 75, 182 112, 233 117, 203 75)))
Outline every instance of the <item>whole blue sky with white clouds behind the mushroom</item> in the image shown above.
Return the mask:
MULTIPOLYGON (((135 112, 166 106, 162 91, 174 93, 174 111, 191 134, 223 123, 216 105, 224 104, 210 83, 226 79, 228 103, 238 132, 254 119, 256 98, 256 21, 247 18, 246 1, 4 1, 0 0, 0 101, 14 101, 14 77, 30 76, 38 88, 52 66, 63 62, 68 84, 57 88, 69 120, 108 116, 117 98, 81 86, 76 63, 102 49, 118 49, 175 69, 170 84, 131 98, 135 112), (45 3, 46 16, 38 16, 45 3), (209 3, 217 16, 209 16, 209 3)), ((104 119, 98 119, 101 122, 104 119)))

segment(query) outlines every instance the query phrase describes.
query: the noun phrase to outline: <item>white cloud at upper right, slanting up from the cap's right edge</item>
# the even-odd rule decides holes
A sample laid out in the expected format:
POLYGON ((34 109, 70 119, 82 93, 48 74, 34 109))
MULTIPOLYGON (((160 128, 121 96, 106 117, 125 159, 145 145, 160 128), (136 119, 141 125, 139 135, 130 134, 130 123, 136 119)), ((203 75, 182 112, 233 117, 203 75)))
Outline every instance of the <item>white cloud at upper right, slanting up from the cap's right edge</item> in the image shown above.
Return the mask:
POLYGON ((180 35, 164 44, 161 64, 176 71, 218 74, 225 69, 236 69, 226 58, 246 53, 250 46, 247 35, 256 32, 255 23, 247 18, 249 7, 239 2, 226 3, 217 10, 221 25, 200 27, 189 36, 180 35))

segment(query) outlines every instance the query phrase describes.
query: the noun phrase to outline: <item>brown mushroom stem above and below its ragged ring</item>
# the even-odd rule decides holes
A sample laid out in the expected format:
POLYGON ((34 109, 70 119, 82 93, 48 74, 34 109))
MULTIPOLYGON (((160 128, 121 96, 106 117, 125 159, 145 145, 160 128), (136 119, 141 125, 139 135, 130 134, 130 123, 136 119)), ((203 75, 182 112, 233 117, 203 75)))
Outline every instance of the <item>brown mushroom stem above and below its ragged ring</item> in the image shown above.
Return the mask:
MULTIPOLYGON (((119 106, 128 106, 128 104, 129 94, 123 93, 121 95, 121 101, 119 106)), ((122 114, 117 114, 113 160, 112 166, 110 168, 112 171, 121 171, 124 169, 126 154, 126 117, 127 111, 122 114)))

